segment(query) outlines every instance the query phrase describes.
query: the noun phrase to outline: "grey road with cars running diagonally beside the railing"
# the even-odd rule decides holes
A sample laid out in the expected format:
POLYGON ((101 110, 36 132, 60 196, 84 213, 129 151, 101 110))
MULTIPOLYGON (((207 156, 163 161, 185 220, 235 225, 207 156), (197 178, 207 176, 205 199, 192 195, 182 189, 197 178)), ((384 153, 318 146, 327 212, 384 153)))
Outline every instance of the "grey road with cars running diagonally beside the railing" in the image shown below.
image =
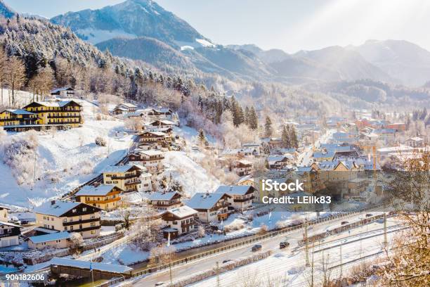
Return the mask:
MULTIPOLYGON (((334 219, 331 222, 323 222, 317 225, 313 225, 311 227, 308 227, 308 234, 311 236, 314 233, 322 233, 325 232, 327 229, 327 224, 330 223, 332 226, 340 226, 341 222, 345 219, 348 219, 350 221, 356 220, 364 217, 365 212, 363 214, 356 214, 356 215, 350 215, 348 217, 342 217, 339 219, 334 219)), ((380 227, 380 224, 379 224, 380 227)), ((303 229, 297 229, 294 231, 291 231, 287 234, 282 234, 280 236, 276 236, 273 238, 268 238, 264 241, 260 241, 261 245, 263 245, 263 250, 267 249, 274 249, 278 250, 278 246, 280 241, 285 240, 285 237, 289 238, 288 241, 292 243, 292 245, 295 243, 297 245, 297 239, 301 239, 303 236, 303 229)), ((233 260, 235 258, 239 257, 247 257, 249 255, 252 255, 251 246, 255 243, 251 243, 249 245, 243 245, 239 248, 235 248, 232 250, 226 250, 223 253, 216 253, 215 255, 211 255, 208 257, 203 257, 201 260, 195 260, 192 262, 189 262, 187 264, 181 264, 176 267, 172 267, 172 272, 174 274, 174 278, 178 279, 179 277, 183 276, 189 276, 192 273, 195 272, 201 272, 207 269, 211 269, 216 266, 216 262, 223 262, 223 260, 233 260)), ((155 286, 155 283, 157 282, 168 282, 169 281, 169 269, 162 270, 160 272, 157 272, 155 274, 150 274, 148 276, 145 276, 142 279, 138 279, 136 281, 133 281, 133 285, 136 286, 155 286)))

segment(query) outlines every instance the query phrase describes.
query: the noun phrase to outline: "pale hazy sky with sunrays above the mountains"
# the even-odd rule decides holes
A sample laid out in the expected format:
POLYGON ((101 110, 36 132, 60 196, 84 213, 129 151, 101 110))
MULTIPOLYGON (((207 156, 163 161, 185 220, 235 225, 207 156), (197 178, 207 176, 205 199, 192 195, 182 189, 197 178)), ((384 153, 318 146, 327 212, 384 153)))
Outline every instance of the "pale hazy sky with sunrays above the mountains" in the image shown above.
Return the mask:
MULTIPOLYGON (((52 17, 123 0, 4 0, 18 12, 52 17)), ((158 0, 219 44, 320 49, 403 39, 430 51, 428 0, 158 0)))

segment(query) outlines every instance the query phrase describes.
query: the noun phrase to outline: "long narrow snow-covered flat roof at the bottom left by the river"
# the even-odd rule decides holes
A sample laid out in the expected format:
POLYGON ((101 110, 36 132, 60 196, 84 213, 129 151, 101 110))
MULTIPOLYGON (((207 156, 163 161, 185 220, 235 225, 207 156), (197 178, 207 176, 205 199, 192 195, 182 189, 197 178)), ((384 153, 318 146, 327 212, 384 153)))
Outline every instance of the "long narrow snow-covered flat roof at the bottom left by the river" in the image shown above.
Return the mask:
POLYGON ((132 268, 125 265, 106 264, 106 263, 74 260, 74 259, 59 258, 59 257, 54 257, 53 259, 51 259, 49 263, 51 265, 63 265, 68 267, 81 268, 81 269, 90 269, 90 267, 92 267, 93 270, 112 272, 112 273, 128 273, 131 270, 133 270, 132 268))

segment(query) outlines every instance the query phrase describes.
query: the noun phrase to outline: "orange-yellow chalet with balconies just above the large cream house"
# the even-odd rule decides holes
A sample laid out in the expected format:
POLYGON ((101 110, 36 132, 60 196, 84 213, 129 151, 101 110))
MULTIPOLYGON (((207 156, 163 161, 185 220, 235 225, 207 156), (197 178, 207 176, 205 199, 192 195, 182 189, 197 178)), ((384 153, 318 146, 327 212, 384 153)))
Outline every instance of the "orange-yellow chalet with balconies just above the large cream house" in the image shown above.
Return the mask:
POLYGON ((122 189, 114 185, 84 186, 74 196, 76 201, 93 205, 106 211, 121 204, 122 189))

